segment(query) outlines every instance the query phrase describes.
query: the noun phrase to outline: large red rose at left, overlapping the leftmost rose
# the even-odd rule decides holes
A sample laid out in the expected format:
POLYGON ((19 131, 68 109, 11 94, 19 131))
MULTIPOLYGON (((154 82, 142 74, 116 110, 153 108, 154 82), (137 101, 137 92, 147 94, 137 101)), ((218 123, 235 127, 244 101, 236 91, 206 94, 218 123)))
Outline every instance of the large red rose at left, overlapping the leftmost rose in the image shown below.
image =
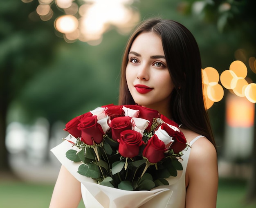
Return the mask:
POLYGON ((81 141, 85 144, 93 145, 93 141, 99 144, 103 140, 104 132, 97 123, 97 116, 82 117, 78 129, 81 130, 81 141))

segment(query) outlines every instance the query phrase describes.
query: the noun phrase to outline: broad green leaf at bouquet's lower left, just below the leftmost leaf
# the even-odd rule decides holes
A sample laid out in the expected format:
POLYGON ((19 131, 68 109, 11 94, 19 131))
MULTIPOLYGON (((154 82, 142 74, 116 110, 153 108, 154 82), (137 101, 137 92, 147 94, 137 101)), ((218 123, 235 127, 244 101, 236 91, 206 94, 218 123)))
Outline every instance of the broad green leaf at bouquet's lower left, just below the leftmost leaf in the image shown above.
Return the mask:
POLYGON ((97 179, 101 177, 101 171, 99 169, 99 166, 94 163, 82 164, 81 166, 79 166, 77 172, 92 179, 97 179))

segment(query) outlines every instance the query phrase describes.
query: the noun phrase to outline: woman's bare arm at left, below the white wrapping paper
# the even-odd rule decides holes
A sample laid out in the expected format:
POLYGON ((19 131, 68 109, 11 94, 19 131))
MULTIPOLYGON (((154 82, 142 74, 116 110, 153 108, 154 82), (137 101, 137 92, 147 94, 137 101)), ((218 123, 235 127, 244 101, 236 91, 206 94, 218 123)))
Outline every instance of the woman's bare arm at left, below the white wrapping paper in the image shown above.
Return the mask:
POLYGON ((77 208, 80 201, 81 183, 61 166, 49 208, 77 208))

